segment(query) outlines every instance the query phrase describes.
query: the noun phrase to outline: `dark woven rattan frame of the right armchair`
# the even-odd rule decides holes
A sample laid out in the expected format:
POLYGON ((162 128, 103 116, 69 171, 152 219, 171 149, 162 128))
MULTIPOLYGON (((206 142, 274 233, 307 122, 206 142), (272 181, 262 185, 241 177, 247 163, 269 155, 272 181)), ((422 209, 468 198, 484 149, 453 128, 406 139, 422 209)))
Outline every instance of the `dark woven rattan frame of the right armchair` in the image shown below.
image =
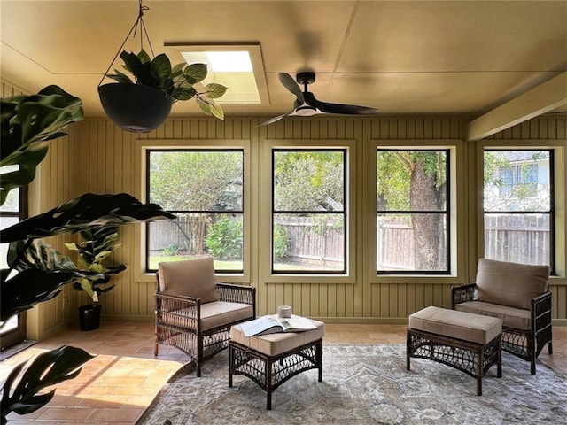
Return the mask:
MULTIPOLYGON (((452 308, 457 304, 473 301, 476 286, 476 283, 470 283, 453 288, 452 308)), ((532 298, 529 329, 502 325, 502 350, 529 361, 532 375, 535 375, 535 360, 545 344, 548 344, 549 354, 553 353, 551 301, 550 291, 532 298)))

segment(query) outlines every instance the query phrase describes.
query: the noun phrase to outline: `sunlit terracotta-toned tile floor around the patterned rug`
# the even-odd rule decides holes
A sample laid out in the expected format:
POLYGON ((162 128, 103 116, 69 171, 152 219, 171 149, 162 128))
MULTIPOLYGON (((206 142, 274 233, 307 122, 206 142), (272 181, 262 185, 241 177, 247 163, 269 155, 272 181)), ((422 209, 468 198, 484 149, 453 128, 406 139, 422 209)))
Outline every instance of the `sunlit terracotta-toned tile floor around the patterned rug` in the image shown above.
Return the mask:
MULTIPOLYGON (((405 344, 405 325, 326 324, 325 344, 405 344)), ((554 327, 554 354, 540 360, 567 377, 567 327, 554 327)), ((103 322, 89 332, 70 329, 0 362, 0 381, 19 362, 44 350, 73 345, 97 354, 73 380, 57 387, 55 398, 35 413, 11 413, 9 423, 71 425, 135 424, 159 389, 188 361, 183 353, 160 346, 153 356, 151 322, 103 322)), ((526 371, 528 370, 526 363, 526 371)), ((527 372, 526 372, 527 373, 527 372)))

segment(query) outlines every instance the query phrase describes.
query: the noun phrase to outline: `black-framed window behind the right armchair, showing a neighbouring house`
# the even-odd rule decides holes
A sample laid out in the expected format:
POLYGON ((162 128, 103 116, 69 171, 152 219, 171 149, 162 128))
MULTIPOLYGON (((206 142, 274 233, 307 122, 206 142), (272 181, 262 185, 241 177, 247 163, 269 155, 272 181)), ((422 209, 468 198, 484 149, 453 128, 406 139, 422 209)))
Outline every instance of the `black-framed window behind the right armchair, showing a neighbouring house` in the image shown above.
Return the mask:
POLYGON ((553 269, 553 151, 484 151, 485 258, 553 269))

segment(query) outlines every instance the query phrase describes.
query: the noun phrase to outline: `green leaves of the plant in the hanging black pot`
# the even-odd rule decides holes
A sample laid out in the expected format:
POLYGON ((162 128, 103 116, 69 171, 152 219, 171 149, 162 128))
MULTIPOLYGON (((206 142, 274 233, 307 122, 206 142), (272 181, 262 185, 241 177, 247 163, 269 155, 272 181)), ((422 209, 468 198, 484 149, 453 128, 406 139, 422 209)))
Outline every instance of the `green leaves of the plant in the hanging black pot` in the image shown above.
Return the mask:
POLYGON ((224 95, 227 88, 214 82, 207 84, 203 89, 198 89, 197 86, 206 78, 206 64, 180 63, 172 67, 165 53, 150 58, 145 50, 140 50, 137 54, 122 50, 120 58, 124 61, 124 69, 134 76, 134 81, 117 69, 114 70, 115 73, 107 74, 108 78, 121 83, 142 84, 160 89, 167 96, 172 97, 174 102, 195 99, 201 111, 224 120, 221 106, 211 99, 224 95))

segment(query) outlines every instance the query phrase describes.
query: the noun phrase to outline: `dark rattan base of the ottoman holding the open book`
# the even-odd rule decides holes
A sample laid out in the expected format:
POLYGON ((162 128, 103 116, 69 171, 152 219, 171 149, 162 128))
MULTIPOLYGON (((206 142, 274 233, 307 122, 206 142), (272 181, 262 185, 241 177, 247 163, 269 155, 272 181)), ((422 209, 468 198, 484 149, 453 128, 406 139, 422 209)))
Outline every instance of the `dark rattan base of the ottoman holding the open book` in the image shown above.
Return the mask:
POLYGON ((322 338, 288 352, 268 356, 235 341, 229 342, 229 387, 232 375, 244 375, 266 391, 266 408, 272 409, 272 392, 291 377, 318 369, 322 382, 322 338))

